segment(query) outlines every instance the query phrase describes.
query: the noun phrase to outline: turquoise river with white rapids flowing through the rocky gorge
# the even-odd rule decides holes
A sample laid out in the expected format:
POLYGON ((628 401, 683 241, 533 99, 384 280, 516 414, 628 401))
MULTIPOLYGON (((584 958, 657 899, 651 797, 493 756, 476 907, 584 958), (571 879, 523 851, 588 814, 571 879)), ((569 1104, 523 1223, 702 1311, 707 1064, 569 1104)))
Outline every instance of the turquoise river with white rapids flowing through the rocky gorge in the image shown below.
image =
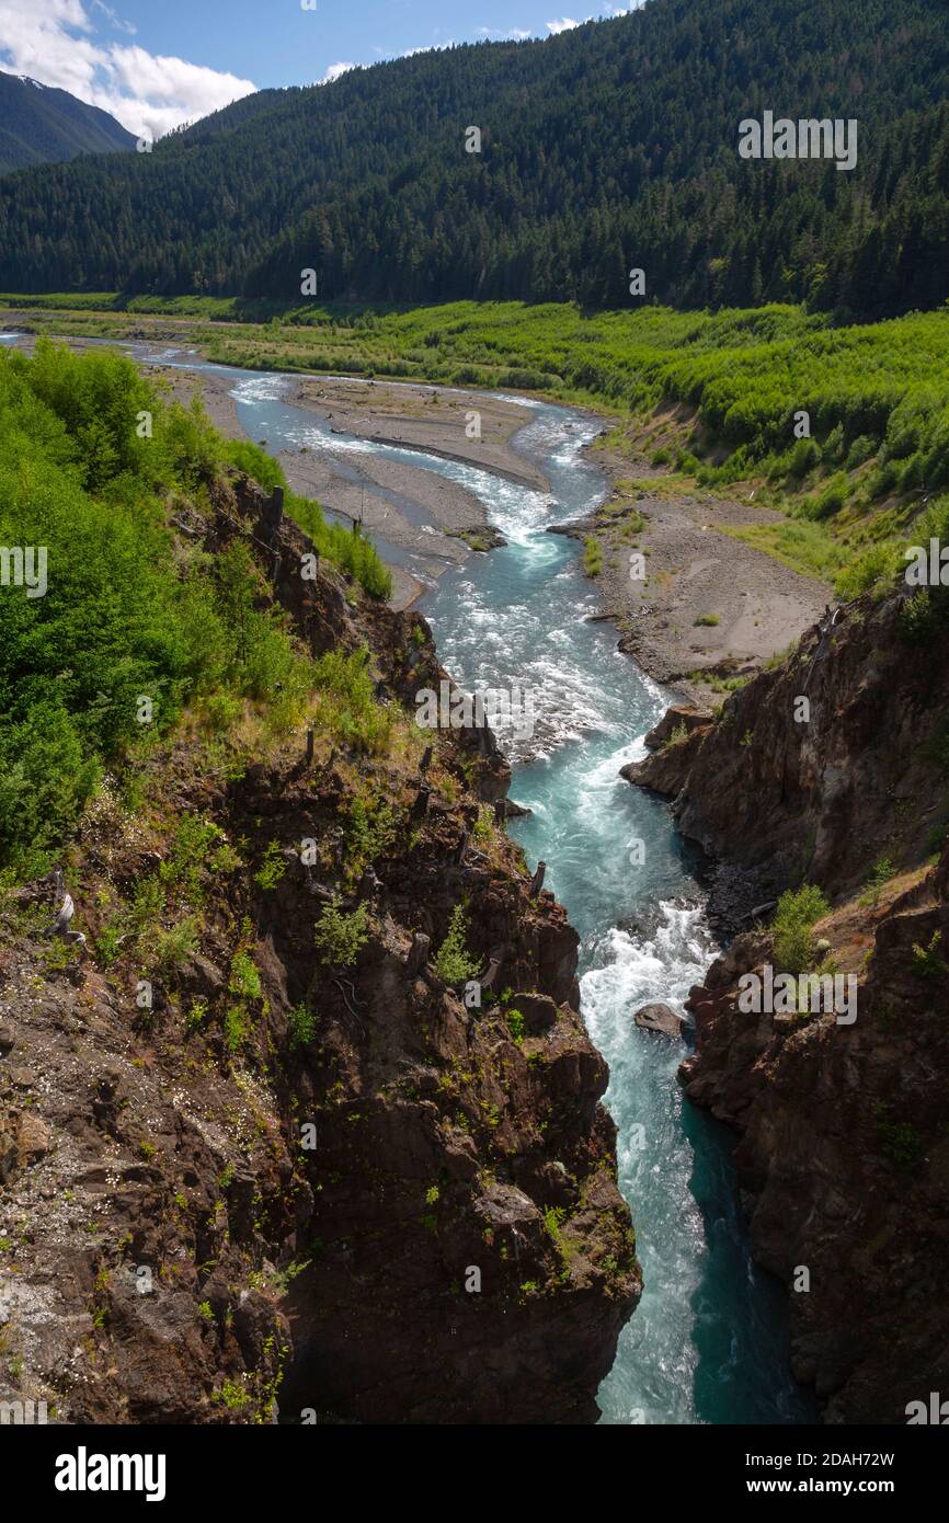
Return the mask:
MULTIPOLYGON (((225 369, 181 350, 126 347, 161 364, 225 369)), ((533 699, 533 736, 501 731, 513 765, 510 795, 532 810, 510 822, 510 833, 532 865, 547 862, 545 883, 582 938, 582 1014, 609 1063, 605 1103, 618 1127, 620 1188, 644 1275, 643 1299, 599 1392, 602 1422, 813 1421, 816 1409, 788 1369, 784 1292, 751 1261, 734 1138, 682 1100, 675 1078, 682 1043, 632 1022, 647 1001, 681 1010, 716 947, 669 812, 618 777, 625 762, 644 754, 643 737, 669 694, 617 652, 612 626, 588 621, 597 603, 577 542, 547 533, 606 496, 605 478, 583 457, 599 425, 570 408, 509 396, 524 407, 513 448, 541 466, 547 493, 410 448, 331 434, 285 401, 299 376, 225 373, 242 428, 250 439, 265 437, 273 454, 332 449, 356 474, 369 452, 416 465, 481 498, 507 541, 449 568, 419 608, 460 687, 516 685, 533 699)), ((376 542, 423 574, 411 553, 396 556, 376 542)))

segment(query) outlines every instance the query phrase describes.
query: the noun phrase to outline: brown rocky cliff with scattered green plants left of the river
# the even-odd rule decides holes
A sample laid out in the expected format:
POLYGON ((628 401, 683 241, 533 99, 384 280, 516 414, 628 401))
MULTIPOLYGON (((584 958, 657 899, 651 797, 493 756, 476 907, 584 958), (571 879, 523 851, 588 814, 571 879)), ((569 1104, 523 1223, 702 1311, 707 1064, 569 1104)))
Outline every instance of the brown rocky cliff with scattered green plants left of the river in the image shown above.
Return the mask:
MULTIPOLYGON (((366 646, 381 702, 445 676, 417 615, 328 567, 303 586, 308 542, 245 484, 183 522, 247 538, 260 595, 315 652, 366 646)), ((101 795, 70 848, 85 949, 43 937, 50 883, 8 897, 0 1400, 596 1418, 640 1270, 577 938, 494 819, 506 787, 483 731, 367 754, 317 730, 308 760, 303 734, 251 758, 186 725, 146 803, 101 795), (480 1008, 433 964, 457 906, 480 1008), (328 908, 352 956, 317 949, 328 908)))

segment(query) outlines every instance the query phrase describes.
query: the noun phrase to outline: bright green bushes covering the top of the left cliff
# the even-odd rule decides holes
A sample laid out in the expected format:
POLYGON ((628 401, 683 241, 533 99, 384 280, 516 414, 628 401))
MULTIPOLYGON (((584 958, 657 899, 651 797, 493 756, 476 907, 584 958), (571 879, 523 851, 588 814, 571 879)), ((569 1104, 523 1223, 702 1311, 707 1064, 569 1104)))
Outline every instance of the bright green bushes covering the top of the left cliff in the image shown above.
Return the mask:
MULTIPOLYGON (((303 652, 262 606, 248 547, 212 559, 169 527, 238 472, 283 480, 128 359, 44 340, 34 359, 0 353, 0 867, 40 870, 105 769, 131 778, 187 705, 210 730, 248 705, 282 728, 320 690, 326 713, 358 723, 363 669, 303 652)), ((329 560, 387 591, 367 541, 326 525, 317 504, 288 506, 329 560)))

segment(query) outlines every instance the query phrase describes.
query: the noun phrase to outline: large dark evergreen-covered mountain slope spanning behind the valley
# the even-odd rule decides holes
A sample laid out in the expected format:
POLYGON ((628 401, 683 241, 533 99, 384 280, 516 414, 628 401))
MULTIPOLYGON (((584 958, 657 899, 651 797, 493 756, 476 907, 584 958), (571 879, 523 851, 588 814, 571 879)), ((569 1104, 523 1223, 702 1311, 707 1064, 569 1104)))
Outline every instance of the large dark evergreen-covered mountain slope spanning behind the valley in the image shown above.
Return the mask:
POLYGON ((547 41, 265 91, 151 154, 0 183, 0 286, 326 300, 949 295, 944 0, 650 0, 547 41), (739 122, 855 119, 858 163, 745 160, 739 122), (466 152, 469 126, 481 152, 466 152))

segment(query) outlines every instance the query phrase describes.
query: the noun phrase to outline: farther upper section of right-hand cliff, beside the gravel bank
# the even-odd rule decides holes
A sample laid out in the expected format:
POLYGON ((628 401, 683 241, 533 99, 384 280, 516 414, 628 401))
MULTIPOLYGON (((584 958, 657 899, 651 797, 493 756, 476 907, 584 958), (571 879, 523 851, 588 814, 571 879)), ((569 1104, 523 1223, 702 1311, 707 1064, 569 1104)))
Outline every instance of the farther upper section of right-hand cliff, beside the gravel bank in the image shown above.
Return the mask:
POLYGON ((862 599, 733 693, 716 722, 623 769, 727 860, 713 909, 751 909, 803 879, 847 894, 880 857, 925 859, 949 818, 949 621, 923 643, 912 634, 905 595, 862 599))

